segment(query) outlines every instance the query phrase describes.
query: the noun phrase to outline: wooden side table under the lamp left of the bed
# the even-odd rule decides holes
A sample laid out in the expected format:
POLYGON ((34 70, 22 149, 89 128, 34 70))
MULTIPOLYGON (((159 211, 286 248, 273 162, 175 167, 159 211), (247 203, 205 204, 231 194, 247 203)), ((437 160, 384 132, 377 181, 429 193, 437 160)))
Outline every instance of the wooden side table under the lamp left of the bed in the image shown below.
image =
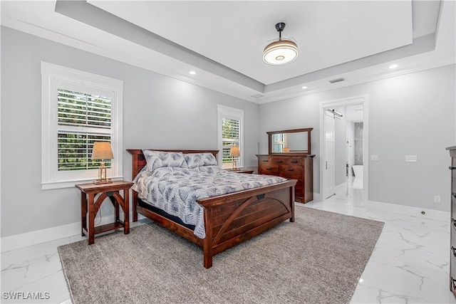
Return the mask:
POLYGON ((88 236, 88 244, 95 242, 95 234, 105 231, 123 228, 124 234, 130 233, 130 187, 132 182, 114 181, 109 184, 76 184, 75 187, 81 190, 81 235, 88 236), (120 195, 123 191, 123 197, 120 195), (98 198, 95 201, 95 196, 98 198), (115 208, 115 222, 95 227, 95 216, 101 204, 109 197, 115 208), (119 206, 123 210, 123 221, 119 219, 119 206), (88 217, 88 221, 87 221, 88 217))

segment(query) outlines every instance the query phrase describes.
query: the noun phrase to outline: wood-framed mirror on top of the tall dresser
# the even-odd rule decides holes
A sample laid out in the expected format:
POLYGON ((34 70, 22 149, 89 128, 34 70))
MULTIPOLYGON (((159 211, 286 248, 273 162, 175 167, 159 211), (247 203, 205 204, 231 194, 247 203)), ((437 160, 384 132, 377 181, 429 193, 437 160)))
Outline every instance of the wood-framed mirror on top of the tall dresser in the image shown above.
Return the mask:
POLYGON ((311 130, 314 128, 266 132, 269 136, 269 154, 311 154, 311 130))

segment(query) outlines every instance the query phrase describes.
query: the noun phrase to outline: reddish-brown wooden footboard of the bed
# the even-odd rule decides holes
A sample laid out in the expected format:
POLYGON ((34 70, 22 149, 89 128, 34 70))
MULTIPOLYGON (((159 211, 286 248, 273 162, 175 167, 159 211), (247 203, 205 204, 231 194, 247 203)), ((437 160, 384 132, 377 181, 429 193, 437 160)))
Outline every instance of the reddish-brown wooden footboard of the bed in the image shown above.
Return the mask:
POLYGON ((294 221, 296 179, 281 184, 197 200, 204 206, 204 267, 227 248, 290 219, 294 221))

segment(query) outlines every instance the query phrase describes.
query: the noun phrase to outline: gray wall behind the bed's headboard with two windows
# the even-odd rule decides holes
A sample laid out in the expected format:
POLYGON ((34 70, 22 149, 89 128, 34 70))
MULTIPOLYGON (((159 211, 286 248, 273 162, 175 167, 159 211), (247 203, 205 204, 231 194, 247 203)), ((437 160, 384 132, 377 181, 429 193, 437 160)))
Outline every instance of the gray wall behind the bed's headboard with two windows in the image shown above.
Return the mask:
MULTIPOLYGON (((257 164, 258 105, 1 27, 1 237, 81 220, 76 188, 41 190, 41 61, 124 81, 124 150, 217 149, 219 103, 245 111, 244 165, 257 164)), ((127 180, 130 163, 125 151, 127 180)))

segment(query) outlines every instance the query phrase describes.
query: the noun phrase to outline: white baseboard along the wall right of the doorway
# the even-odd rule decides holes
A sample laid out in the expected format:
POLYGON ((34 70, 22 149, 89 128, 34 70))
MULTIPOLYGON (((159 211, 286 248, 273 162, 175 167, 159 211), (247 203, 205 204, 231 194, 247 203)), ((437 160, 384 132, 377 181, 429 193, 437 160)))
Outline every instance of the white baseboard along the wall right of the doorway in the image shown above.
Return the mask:
POLYGON ((451 219, 450 211, 439 211, 434 209, 418 208, 413 206, 382 203, 380 201, 365 201, 364 207, 368 209, 392 212, 395 214, 420 217, 423 219, 434 219, 437 221, 449 222, 451 219))

